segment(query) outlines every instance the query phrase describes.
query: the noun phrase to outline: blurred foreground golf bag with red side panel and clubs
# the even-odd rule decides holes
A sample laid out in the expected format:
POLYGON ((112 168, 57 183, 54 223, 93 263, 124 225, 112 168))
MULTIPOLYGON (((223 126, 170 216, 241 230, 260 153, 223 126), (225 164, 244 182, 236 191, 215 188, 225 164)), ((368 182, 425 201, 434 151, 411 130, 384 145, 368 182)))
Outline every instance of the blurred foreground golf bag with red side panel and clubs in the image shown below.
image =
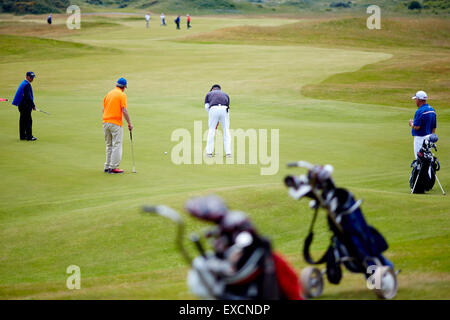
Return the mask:
POLYGON ((216 197, 200 197, 186 205, 192 216, 213 222, 206 232, 214 251, 194 259, 188 285, 202 298, 226 300, 301 299, 297 274, 279 255, 270 241, 258 234, 253 224, 239 211, 228 211, 216 197))

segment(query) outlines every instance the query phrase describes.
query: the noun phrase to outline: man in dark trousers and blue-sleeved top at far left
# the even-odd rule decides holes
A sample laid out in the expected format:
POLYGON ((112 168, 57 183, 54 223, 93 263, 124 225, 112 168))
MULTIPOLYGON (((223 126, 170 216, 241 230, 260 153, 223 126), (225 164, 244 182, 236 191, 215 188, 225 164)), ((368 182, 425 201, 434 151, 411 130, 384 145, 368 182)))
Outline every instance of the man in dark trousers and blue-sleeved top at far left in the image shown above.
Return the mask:
POLYGON ((34 105, 33 88, 31 87, 31 83, 35 77, 36 75, 33 71, 27 72, 26 79, 20 84, 12 102, 13 105, 19 108, 20 112, 20 140, 37 140, 36 137, 33 137, 33 119, 31 118, 31 112, 36 110, 36 106, 34 105))

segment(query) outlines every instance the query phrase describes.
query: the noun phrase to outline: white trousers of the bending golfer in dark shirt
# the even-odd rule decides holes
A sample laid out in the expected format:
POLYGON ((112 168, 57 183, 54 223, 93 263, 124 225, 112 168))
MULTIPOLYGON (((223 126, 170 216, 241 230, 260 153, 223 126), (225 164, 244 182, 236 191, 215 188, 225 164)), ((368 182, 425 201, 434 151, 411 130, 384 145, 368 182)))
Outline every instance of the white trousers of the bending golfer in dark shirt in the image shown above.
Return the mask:
POLYGON ((208 141, 206 144, 206 153, 212 154, 214 152, 214 137, 216 135, 216 127, 219 122, 223 130, 225 154, 231 154, 230 113, 227 112, 226 106, 212 106, 209 109, 209 131, 208 141))

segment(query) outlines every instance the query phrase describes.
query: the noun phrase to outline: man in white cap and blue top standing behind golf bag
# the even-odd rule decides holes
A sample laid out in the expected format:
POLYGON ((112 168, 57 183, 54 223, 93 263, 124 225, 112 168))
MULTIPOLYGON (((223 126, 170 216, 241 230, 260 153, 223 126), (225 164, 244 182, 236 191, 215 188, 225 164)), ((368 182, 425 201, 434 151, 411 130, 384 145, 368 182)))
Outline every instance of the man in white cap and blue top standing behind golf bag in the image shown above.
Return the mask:
POLYGON ((412 99, 416 100, 417 111, 414 120, 409 120, 412 136, 414 137, 414 156, 422 147, 425 136, 436 132, 436 112, 427 103, 428 96, 425 91, 417 91, 412 99))

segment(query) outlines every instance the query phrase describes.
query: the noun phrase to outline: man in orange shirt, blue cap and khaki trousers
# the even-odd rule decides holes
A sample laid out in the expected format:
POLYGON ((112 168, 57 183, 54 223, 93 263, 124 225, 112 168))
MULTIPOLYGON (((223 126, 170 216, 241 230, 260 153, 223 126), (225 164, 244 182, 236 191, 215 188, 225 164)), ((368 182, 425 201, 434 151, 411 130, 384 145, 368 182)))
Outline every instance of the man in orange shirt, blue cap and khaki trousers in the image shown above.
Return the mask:
POLYGON ((122 160, 122 116, 128 122, 128 130, 132 131, 130 116, 127 111, 127 95, 124 93, 127 80, 117 80, 116 88, 108 92, 103 99, 103 130, 106 142, 105 172, 123 173, 119 169, 122 160))

